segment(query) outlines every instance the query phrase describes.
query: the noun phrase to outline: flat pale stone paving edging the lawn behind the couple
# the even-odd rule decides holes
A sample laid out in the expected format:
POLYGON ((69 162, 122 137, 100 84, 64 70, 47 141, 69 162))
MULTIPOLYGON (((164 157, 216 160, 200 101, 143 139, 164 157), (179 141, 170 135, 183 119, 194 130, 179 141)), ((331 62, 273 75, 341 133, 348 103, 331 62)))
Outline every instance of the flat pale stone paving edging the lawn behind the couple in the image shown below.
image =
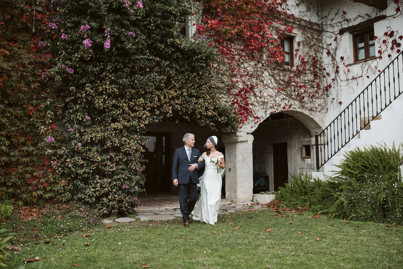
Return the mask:
MULTIPOLYGON (((230 200, 222 200, 218 215, 229 214, 236 211, 255 211, 255 210, 267 210, 266 205, 254 204, 253 202, 245 202, 243 204, 233 204, 230 200)), ((140 221, 170 221, 172 219, 182 218, 179 206, 165 206, 160 208, 137 209, 137 219, 133 218, 119 218, 114 221, 109 219, 103 219, 103 223, 128 223, 136 220, 140 221)))

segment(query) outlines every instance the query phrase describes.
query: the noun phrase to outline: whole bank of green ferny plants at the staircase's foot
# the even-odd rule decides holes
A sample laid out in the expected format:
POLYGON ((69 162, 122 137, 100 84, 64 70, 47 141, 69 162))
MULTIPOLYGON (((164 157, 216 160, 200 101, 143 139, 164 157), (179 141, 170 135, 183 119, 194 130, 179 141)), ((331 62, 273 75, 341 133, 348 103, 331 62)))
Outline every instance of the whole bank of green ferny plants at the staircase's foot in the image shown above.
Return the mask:
POLYGON ((305 174, 279 189, 291 206, 310 206, 330 217, 403 223, 401 146, 355 148, 346 152, 334 177, 321 181, 305 174))

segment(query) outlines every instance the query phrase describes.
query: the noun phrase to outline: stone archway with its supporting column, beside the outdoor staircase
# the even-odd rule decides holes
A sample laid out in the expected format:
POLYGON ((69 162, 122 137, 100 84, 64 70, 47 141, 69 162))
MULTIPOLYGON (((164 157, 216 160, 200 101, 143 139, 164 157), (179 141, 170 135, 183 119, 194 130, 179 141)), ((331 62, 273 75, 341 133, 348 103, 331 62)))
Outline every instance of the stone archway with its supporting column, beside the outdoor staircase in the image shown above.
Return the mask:
POLYGON ((222 135, 226 149, 225 197, 227 199, 234 200, 235 203, 251 201, 253 189, 256 189, 253 173, 260 170, 267 173, 269 177, 269 190, 274 190, 274 173, 272 168, 269 169, 270 162, 272 166, 273 158, 272 144, 287 143, 288 179, 291 179, 290 174, 314 171, 314 136, 316 131, 322 131, 325 121, 324 114, 308 115, 301 111, 287 111, 282 114, 288 115, 290 120, 287 120, 289 123, 285 120, 282 123, 278 122, 279 126, 283 129, 291 126, 291 129, 295 129, 295 131, 289 130, 287 136, 284 133, 280 135, 280 129, 276 129, 278 127, 270 126, 271 115, 263 116, 262 118, 265 120, 259 125, 252 123, 244 125, 236 135, 222 135), (277 131, 277 134, 270 135, 267 131, 277 131), (271 138, 271 148, 270 143, 265 143, 269 146, 261 146, 262 138, 267 139, 268 136, 271 138), (260 153, 256 153, 253 148, 260 153), (306 155, 307 153, 310 155, 306 155), (267 156, 267 158, 263 163, 257 164, 255 160, 261 159, 259 154, 263 154, 262 156, 267 156), (310 157, 308 158, 308 156, 310 157))

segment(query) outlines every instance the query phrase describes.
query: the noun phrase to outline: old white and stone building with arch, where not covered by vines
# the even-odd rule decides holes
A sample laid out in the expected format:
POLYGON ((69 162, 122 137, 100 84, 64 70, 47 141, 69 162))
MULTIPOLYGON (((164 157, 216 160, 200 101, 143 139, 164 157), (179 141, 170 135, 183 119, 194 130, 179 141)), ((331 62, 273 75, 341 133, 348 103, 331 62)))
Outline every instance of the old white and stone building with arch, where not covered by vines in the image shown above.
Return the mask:
MULTIPOLYGON (((324 102, 324 109, 312 112, 298 105, 277 113, 270 113, 270 109, 257 109, 261 121, 258 124, 249 122, 243 125, 235 135, 214 133, 183 123, 162 122, 150 125, 147 136, 150 136, 151 140, 146 145, 145 152, 149 163, 144 171, 147 174, 147 192, 174 190, 170 178, 170 159, 174 149, 183 146, 181 139, 187 132, 196 134, 195 148, 201 152, 204 151, 203 145, 208 136, 218 137, 218 150, 224 152, 226 162, 223 190, 226 198, 234 200, 235 203, 250 201, 253 193, 277 190, 279 186, 292 180, 293 174, 313 173, 323 177, 324 174, 331 173, 334 169, 331 164, 340 161, 343 152, 351 147, 368 146, 377 142, 385 142, 388 145, 403 142, 403 97, 399 96, 403 92, 403 60, 402 54, 397 53, 400 45, 395 44, 395 48, 390 49, 393 39, 401 42, 399 36, 403 34, 403 16, 396 12, 397 5, 394 1, 360 0, 348 4, 330 0, 290 0, 287 2, 287 8, 309 25, 316 25, 316 32, 320 32, 320 35, 316 33, 316 38, 319 37, 318 42, 322 48, 318 57, 323 61, 324 67, 333 72, 330 77, 338 77, 328 96, 321 101, 324 102), (347 14, 344 14, 343 10, 347 14), (391 31, 394 31, 392 37, 385 38, 384 33, 388 32, 388 36, 391 31), (374 40, 374 36, 377 39, 374 40), (387 46, 384 46, 382 40, 386 40, 387 46), (388 57, 388 54, 391 56, 388 57), (383 70, 398 55, 400 58, 393 61, 393 66, 389 67, 395 68, 393 72, 385 73, 383 70), (337 71, 331 68, 334 63, 339 67, 337 71), (376 79, 380 79, 377 76, 382 73, 385 76, 384 81, 389 83, 380 81, 376 84, 376 79), (385 100, 386 88, 388 91, 392 88, 395 93, 392 93, 387 107, 383 105, 382 100, 378 100, 385 100), (369 96, 371 93, 368 89, 372 89, 373 96, 363 97, 362 100, 359 98, 359 102, 365 100, 370 103, 372 98, 372 107, 379 104, 378 112, 366 110, 367 114, 361 114, 361 107, 355 105, 358 102, 356 98, 365 89, 369 96), (384 96, 381 96, 381 93, 376 94, 380 90, 384 96), (351 110, 348 110, 346 117, 345 108, 349 109, 350 106, 351 110), (353 110, 354 115, 351 114, 353 110), (343 117, 343 113, 344 123, 342 119, 338 120, 338 117, 343 117), (371 121, 375 117, 380 120, 371 121), (364 128, 367 121, 371 123, 364 128), (329 132, 329 124, 335 125, 336 122, 348 127, 337 126, 334 127, 333 133, 329 132), (358 129, 350 126, 350 123, 357 125, 357 122, 358 129), (364 129, 361 130, 360 127, 364 129), (351 135, 347 136, 346 133, 350 129, 351 135), (317 142, 319 160, 316 158, 315 135, 322 131, 325 132, 317 142), (345 142, 339 142, 339 135, 340 140, 345 142), (330 150, 330 154, 326 156, 325 152, 329 151, 329 146, 334 147, 334 150, 330 150), (317 167, 317 161, 320 167, 317 167)), ((193 32, 194 29, 189 27, 188 35, 193 32)), ((304 28, 299 27, 290 35, 289 48, 293 48, 293 43, 295 47, 295 42, 302 36, 306 38, 306 35, 302 34, 304 32, 304 28)), ((288 65, 293 68, 291 61, 288 65)), ((323 84, 326 83, 328 81, 324 78, 323 84)), ((272 88, 264 90, 275 91, 272 88)))

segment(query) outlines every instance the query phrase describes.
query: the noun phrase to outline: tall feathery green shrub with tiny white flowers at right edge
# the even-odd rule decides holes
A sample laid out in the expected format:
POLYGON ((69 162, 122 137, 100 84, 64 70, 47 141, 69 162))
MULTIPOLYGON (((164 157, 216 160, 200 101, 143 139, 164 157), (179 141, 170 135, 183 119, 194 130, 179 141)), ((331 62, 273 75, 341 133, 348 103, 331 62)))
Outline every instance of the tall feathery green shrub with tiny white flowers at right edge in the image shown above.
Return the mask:
POLYGON ((330 213, 337 217, 403 222, 401 146, 355 148, 346 152, 334 177, 340 184, 339 203, 330 213))

